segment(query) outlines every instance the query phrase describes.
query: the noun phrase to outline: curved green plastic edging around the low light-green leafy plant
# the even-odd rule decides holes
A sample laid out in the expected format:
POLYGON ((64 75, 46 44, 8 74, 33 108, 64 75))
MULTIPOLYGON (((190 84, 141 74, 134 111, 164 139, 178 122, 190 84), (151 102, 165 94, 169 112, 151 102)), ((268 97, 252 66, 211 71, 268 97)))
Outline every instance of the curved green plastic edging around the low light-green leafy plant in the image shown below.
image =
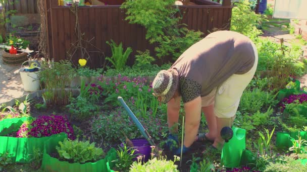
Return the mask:
POLYGON ((65 172, 77 172, 77 171, 91 171, 91 172, 105 172, 111 170, 115 166, 114 160, 117 159, 117 153, 114 148, 111 148, 104 159, 100 159, 96 162, 69 163, 67 161, 60 161, 57 158, 51 157, 49 154, 56 152, 56 146, 59 145, 59 141, 64 139, 53 139, 48 141, 44 146, 43 158, 41 168, 43 171, 65 171, 65 172), (107 164, 109 162, 109 164, 107 164))

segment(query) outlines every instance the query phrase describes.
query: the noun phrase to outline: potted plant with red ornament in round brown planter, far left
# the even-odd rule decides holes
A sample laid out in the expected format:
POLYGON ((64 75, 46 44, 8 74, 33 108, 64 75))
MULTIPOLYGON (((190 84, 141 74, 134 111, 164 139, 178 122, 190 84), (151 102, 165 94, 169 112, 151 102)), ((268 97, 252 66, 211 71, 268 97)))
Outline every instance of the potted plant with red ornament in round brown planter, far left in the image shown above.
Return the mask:
POLYGON ((20 65, 24 61, 27 61, 27 53, 20 52, 18 49, 26 49, 30 42, 12 34, 10 34, 7 40, 8 41, 5 45, 10 46, 11 48, 3 50, 3 62, 8 65, 20 65))

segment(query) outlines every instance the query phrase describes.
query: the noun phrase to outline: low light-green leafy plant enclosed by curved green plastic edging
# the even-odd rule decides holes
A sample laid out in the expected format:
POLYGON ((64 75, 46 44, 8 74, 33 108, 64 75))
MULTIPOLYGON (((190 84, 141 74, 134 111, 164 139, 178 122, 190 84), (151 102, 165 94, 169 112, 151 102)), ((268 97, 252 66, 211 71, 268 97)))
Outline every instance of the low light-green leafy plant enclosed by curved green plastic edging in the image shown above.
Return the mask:
POLYGON ((56 149, 63 160, 85 163, 95 162, 101 159, 104 155, 104 151, 101 148, 96 148, 95 143, 89 143, 89 140, 85 141, 83 136, 82 141, 65 139, 63 142, 60 141, 56 149))

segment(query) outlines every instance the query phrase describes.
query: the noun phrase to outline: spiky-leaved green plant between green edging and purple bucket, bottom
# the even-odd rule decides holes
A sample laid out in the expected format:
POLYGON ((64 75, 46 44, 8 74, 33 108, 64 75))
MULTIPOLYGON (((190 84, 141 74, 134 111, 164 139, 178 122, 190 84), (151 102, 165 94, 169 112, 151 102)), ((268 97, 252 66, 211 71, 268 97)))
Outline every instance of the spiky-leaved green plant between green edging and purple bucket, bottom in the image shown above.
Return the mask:
POLYGON ((117 156, 118 159, 115 160, 115 169, 117 171, 129 171, 130 165, 133 163, 133 158, 136 158, 138 154, 134 154, 135 149, 132 147, 127 147, 125 143, 123 143, 124 147, 118 146, 117 156))

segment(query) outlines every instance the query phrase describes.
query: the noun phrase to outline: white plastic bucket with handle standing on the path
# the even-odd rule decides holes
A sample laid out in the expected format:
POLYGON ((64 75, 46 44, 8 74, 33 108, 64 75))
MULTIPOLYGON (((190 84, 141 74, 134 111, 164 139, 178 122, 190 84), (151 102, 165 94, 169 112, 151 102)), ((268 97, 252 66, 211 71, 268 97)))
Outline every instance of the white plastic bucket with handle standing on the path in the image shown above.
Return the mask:
POLYGON ((38 78, 40 67, 37 68, 38 71, 25 71, 25 67, 19 69, 21 81, 25 92, 35 92, 40 90, 40 82, 38 78))

